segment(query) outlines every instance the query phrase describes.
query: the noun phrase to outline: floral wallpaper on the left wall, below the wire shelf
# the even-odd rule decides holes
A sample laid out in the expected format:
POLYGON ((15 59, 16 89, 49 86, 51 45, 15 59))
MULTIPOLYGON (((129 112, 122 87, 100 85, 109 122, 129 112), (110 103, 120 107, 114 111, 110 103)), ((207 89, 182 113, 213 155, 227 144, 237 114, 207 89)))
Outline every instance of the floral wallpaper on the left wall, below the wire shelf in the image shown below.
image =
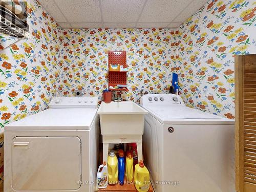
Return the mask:
POLYGON ((46 109, 58 94, 61 28, 37 1, 28 4, 33 39, 10 48, 14 37, 0 35, 0 189, 3 188, 3 127, 13 120, 46 109))

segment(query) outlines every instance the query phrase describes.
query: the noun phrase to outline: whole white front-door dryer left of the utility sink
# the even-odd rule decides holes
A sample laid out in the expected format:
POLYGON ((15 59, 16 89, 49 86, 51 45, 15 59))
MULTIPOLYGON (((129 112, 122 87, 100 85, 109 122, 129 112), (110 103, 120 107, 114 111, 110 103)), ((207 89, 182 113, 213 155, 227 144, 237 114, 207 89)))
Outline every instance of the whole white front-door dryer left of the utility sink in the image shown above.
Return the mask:
POLYGON ((5 127, 4 192, 95 191, 98 97, 54 97, 5 127))

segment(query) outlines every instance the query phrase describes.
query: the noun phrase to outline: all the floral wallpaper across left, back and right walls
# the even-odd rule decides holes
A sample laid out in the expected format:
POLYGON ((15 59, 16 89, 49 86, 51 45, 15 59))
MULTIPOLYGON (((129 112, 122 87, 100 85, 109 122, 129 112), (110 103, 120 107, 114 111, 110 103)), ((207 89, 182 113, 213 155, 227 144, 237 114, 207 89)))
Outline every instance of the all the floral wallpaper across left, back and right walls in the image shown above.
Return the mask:
POLYGON ((188 106, 234 118, 234 58, 255 53, 256 2, 210 0, 177 30, 61 29, 36 0, 32 40, 0 35, 0 190, 3 127, 45 110, 52 96, 98 96, 108 88, 108 51, 126 51, 126 100, 140 90, 166 93, 172 72, 188 106))

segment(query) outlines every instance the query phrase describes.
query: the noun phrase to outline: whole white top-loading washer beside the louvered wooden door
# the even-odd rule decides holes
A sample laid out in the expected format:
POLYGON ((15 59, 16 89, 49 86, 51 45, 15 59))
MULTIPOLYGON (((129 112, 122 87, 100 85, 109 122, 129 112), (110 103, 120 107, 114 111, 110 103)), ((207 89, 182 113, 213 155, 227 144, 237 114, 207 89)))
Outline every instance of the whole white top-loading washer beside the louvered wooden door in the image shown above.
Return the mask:
POLYGON ((234 121, 148 94, 143 152, 156 192, 234 192, 234 121))

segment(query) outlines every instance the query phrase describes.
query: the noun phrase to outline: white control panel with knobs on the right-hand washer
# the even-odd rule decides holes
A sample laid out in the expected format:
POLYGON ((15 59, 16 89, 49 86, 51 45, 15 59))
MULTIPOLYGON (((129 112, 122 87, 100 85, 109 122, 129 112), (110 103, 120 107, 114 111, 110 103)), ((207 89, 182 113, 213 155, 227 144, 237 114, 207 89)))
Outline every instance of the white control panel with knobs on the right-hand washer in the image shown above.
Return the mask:
POLYGON ((185 106, 184 101, 176 94, 147 94, 140 98, 142 106, 185 106))

